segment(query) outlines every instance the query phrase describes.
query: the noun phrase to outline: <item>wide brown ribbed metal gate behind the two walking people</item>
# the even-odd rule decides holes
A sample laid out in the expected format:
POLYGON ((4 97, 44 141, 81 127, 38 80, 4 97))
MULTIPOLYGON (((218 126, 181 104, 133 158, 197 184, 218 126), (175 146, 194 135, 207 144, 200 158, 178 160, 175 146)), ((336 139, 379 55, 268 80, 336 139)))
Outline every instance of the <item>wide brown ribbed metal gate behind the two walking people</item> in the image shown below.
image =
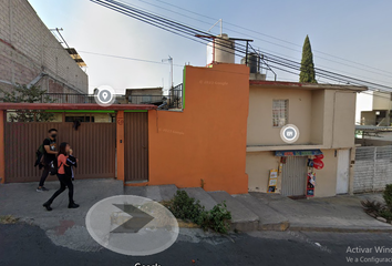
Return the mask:
POLYGON ((35 151, 52 127, 59 130, 58 146, 61 142, 70 143, 79 158, 76 178, 115 177, 115 123, 82 123, 75 131, 73 123, 68 122, 7 122, 7 183, 40 180, 42 171, 34 167, 35 151))

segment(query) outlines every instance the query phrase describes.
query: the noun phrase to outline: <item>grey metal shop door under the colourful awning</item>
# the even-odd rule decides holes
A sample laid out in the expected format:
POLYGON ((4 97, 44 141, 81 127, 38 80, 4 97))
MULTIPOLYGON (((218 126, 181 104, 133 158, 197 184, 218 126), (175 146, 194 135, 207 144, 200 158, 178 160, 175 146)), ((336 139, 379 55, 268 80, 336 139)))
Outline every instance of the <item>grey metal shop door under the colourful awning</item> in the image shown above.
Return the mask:
POLYGON ((282 168, 281 195, 303 196, 308 175, 308 157, 288 156, 282 168))

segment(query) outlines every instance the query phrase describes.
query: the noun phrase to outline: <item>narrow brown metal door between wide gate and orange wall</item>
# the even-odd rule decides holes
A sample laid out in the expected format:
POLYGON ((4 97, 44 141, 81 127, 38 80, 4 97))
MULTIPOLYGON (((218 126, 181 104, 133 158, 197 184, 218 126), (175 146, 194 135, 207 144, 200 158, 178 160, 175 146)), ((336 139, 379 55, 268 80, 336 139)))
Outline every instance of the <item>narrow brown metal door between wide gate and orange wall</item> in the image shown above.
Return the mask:
POLYGON ((125 182, 148 181, 148 113, 124 114, 125 182))

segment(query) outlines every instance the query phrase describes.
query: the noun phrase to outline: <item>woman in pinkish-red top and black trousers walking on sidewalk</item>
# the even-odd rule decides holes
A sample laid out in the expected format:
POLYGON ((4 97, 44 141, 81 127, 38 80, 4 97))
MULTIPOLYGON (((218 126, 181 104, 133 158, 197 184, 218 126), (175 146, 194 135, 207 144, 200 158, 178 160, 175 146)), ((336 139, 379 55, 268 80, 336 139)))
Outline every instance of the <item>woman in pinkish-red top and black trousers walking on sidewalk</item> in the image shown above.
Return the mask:
POLYGON ((53 196, 51 198, 49 198, 48 202, 45 202, 43 204, 43 206, 48 209, 48 211, 52 211, 52 207, 50 206, 54 198, 56 198, 61 193, 63 193, 65 191, 65 188, 68 187, 68 196, 69 196, 69 204, 68 207, 69 208, 76 208, 79 207, 79 205, 73 201, 73 184, 72 184, 72 176, 70 176, 69 174, 66 174, 65 167, 70 167, 70 165, 68 165, 66 163, 66 158, 68 155, 70 153, 70 144, 68 144, 66 142, 63 142, 60 144, 60 149, 59 149, 59 156, 58 156, 58 178, 60 181, 60 188, 54 192, 53 196))

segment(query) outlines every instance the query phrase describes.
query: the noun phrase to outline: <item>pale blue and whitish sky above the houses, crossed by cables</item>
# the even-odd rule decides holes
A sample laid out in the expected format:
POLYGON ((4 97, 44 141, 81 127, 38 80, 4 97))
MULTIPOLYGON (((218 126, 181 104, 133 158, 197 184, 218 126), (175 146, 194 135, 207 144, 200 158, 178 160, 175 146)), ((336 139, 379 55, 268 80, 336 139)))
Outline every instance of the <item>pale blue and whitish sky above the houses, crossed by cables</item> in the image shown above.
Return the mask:
MULTIPOLYGON (((89 0, 29 1, 49 28, 64 29, 62 34, 65 40, 70 47, 80 52, 89 66, 91 91, 105 84, 121 93, 126 88, 163 84, 168 86, 169 81, 168 64, 92 53, 155 62, 171 55, 176 64, 175 84, 182 83, 180 65, 187 62, 192 65, 206 64, 205 45, 116 13, 89 0)), ((224 33, 254 39, 255 48, 297 61, 301 59, 301 45, 305 37, 309 34, 316 66, 392 85, 390 0, 123 0, 123 2, 205 31, 218 19, 223 19, 224 33)), ((218 33, 219 27, 213 32, 218 33)), ((277 72, 278 80, 298 81, 298 76, 277 72)), ((270 73, 268 79, 272 79, 270 73)), ((362 101, 359 104, 364 106, 362 101)))

